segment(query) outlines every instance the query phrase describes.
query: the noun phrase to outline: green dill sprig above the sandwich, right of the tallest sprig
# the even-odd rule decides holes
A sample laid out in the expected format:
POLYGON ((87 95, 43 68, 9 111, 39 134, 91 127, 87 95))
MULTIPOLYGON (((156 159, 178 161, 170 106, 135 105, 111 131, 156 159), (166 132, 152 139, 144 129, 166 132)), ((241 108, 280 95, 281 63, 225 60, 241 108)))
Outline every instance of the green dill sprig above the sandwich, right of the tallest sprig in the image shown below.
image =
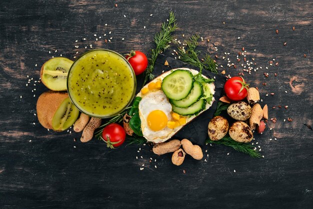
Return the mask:
POLYGON ((200 70, 206 69, 217 74, 216 63, 207 53, 204 55, 203 61, 199 60, 200 51, 196 49, 199 38, 198 34, 194 34, 186 41, 186 48, 178 47, 179 59, 199 67, 200 70))

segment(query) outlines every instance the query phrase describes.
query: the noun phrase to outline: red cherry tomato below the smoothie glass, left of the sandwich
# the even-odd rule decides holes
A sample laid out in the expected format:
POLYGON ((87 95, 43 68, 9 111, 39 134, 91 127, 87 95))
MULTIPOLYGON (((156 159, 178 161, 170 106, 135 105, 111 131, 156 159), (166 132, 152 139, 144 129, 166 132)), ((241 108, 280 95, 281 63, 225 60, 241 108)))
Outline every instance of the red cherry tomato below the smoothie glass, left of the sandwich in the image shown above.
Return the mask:
POLYGON ((125 141, 126 133, 122 126, 117 123, 111 123, 103 128, 102 138, 107 147, 115 148, 125 141))

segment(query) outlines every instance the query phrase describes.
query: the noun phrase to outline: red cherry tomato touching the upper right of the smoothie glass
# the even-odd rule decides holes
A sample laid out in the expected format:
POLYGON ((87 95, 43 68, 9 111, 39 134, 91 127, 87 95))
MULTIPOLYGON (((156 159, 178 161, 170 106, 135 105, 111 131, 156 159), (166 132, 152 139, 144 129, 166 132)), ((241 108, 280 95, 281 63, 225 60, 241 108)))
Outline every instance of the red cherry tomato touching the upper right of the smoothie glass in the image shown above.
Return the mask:
POLYGON ((148 59, 141 51, 130 51, 125 58, 132 66, 135 75, 141 74, 148 66, 148 59))

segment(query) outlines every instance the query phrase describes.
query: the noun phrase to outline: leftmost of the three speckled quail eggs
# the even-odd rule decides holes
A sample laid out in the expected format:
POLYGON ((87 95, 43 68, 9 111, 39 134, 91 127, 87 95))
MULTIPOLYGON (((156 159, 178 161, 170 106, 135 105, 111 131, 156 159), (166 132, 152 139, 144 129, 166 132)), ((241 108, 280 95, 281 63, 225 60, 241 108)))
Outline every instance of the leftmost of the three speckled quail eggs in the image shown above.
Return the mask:
POLYGON ((213 117, 207 127, 207 133, 211 140, 219 140, 226 135, 228 130, 228 121, 222 116, 213 117))

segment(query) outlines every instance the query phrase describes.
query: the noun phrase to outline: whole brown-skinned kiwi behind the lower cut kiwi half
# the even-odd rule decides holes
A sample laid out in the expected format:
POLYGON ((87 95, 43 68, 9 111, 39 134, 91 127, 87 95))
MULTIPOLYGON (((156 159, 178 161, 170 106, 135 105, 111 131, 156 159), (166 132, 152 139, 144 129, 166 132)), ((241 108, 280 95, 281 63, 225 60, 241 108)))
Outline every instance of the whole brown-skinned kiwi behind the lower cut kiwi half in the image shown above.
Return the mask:
POLYGON ((68 97, 67 92, 46 91, 37 100, 37 117, 40 124, 52 129, 52 118, 62 101, 68 97))

